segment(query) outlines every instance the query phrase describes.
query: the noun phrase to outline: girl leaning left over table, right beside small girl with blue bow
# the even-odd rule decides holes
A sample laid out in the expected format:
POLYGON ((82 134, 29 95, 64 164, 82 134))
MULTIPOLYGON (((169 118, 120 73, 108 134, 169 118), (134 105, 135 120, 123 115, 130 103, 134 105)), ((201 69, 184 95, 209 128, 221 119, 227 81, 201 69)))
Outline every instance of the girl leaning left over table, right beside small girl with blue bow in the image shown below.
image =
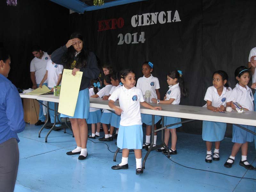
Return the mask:
MULTIPOLYGON (((102 98, 104 95, 109 95, 109 92, 110 92, 111 88, 113 87, 113 85, 111 84, 110 76, 111 75, 108 74, 104 77, 105 87, 103 87, 97 94, 92 95, 91 97, 102 98)), ((112 137, 111 138, 109 137, 108 126, 107 126, 107 124, 110 124, 111 116, 112 116, 112 113, 110 111, 108 111, 107 109, 102 110, 102 116, 101 116, 100 123, 102 123, 102 128, 104 130, 105 136, 100 138, 99 139, 100 141, 111 141, 111 140, 113 140, 112 137)))

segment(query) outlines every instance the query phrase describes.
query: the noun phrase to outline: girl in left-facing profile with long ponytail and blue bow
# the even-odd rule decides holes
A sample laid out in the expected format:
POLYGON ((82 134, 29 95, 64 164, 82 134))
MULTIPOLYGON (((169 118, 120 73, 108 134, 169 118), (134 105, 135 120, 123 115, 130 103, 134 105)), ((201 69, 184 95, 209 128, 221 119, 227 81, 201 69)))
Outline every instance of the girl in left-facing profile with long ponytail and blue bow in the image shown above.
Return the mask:
MULTIPOLYGON (((153 103, 160 103, 160 104, 172 104, 172 105, 179 105, 180 104, 180 97, 187 97, 188 91, 185 88, 182 71, 172 71, 167 74, 167 84, 169 85, 169 90, 167 91, 164 100, 156 100, 152 99, 153 103)), ((169 124, 180 123, 180 118, 177 117, 164 117, 164 126, 169 124)), ((164 143, 168 146, 169 139, 170 139, 170 132, 172 135, 172 146, 169 149, 170 155, 176 155, 176 143, 177 143, 177 134, 176 128, 180 127, 181 124, 173 125, 168 127, 164 130, 164 143)), ((156 149, 158 152, 163 152, 167 154, 167 150, 165 148, 156 149)))

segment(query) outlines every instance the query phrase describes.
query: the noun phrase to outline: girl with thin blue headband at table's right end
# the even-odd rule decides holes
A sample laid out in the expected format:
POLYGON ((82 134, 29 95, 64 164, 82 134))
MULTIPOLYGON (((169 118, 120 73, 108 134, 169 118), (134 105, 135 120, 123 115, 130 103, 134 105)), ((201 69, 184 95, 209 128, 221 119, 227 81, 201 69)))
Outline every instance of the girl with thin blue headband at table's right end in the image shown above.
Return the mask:
MULTIPOLYGON (((253 111, 253 95, 252 90, 247 86, 250 81, 250 71, 248 68, 241 66, 235 71, 236 77, 236 87, 233 89, 234 102, 239 103, 245 111, 253 111)), ((236 107, 232 103, 232 108, 236 107)), ((251 131, 255 131, 254 126, 241 125, 251 131)), ((231 155, 224 164, 225 167, 230 168, 235 161, 235 156, 241 148, 242 158, 239 165, 243 166, 245 169, 254 170, 254 167, 247 161, 248 153, 248 142, 253 141, 253 134, 247 132, 240 127, 233 124, 233 137, 232 142, 234 143, 231 155)))

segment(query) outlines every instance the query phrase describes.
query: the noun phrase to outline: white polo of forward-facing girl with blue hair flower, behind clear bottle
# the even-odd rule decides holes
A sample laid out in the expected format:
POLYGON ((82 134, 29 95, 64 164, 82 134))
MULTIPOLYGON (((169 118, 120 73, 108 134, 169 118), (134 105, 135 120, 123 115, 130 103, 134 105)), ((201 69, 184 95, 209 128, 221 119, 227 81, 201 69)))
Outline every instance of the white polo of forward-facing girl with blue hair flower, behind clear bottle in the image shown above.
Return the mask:
POLYGON ((145 96, 145 92, 147 90, 151 91, 150 102, 152 102, 152 98, 157 99, 156 89, 160 89, 160 85, 158 78, 153 77, 152 74, 150 74, 150 77, 148 78, 146 78, 145 76, 140 77, 137 81, 136 87, 141 89, 143 96, 145 96))

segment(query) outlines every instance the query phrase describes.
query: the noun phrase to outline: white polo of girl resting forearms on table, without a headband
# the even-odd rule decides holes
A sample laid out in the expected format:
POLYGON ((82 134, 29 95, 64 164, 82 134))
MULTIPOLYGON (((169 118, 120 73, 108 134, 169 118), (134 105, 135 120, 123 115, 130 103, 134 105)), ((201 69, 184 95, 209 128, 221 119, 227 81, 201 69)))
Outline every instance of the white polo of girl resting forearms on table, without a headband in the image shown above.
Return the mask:
MULTIPOLYGON (((226 103, 233 101, 232 89, 231 87, 223 87, 223 91, 221 95, 218 94, 217 89, 214 86, 208 87, 204 100, 212 101, 212 107, 220 107, 220 105, 224 105, 226 107, 226 103)), ((203 106, 207 107, 207 103, 203 106)))

